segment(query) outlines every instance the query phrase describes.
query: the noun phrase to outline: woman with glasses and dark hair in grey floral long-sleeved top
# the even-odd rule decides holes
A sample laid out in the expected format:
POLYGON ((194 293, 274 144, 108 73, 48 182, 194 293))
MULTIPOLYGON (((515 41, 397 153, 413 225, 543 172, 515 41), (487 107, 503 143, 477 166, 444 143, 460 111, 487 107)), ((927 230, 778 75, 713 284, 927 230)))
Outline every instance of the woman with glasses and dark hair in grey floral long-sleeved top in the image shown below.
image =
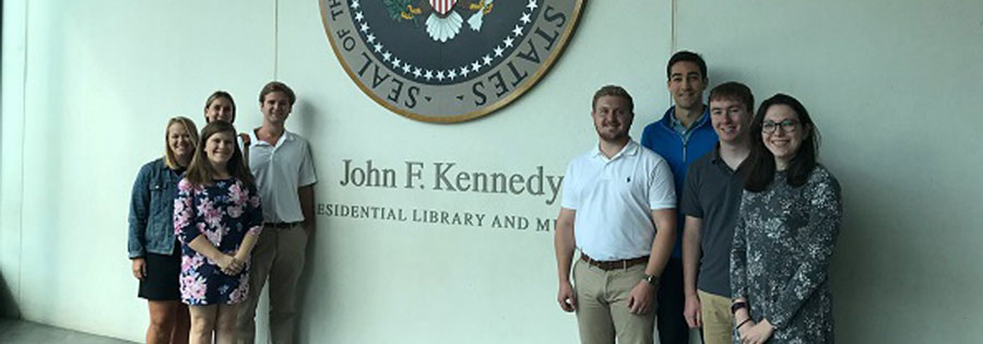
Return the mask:
POLYGON ((829 264, 840 185, 818 155, 818 130, 795 98, 765 100, 741 166, 745 192, 731 250, 736 343, 832 343, 829 264))

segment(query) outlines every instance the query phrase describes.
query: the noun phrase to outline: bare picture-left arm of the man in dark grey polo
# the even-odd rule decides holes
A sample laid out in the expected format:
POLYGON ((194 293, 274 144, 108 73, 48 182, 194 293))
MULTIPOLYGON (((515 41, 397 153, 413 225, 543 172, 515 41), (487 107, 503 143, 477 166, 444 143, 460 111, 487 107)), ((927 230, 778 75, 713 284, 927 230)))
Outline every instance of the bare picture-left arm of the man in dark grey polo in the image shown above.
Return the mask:
POLYGON ((700 230, 703 221, 699 217, 686 216, 683 230, 683 294, 686 296, 683 317, 689 328, 702 325, 700 319, 700 298, 696 293, 697 271, 700 266, 700 230))

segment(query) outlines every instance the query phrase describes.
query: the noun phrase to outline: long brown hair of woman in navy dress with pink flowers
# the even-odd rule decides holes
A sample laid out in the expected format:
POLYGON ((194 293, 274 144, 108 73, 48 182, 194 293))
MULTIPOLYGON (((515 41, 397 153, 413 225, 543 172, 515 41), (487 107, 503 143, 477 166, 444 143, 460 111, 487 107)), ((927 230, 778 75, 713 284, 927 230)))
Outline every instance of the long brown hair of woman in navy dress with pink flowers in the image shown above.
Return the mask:
MULTIPOLYGON (((204 146, 209 138, 220 132, 228 133, 234 141, 237 138, 236 128, 226 121, 212 121, 201 130, 201 139, 198 140, 198 146, 194 149, 194 157, 191 158, 191 166, 188 166, 188 173, 185 175, 185 178, 188 178, 188 181, 196 188, 210 186, 215 178, 215 169, 212 168, 212 163, 209 162, 209 157, 205 155, 204 146)), ((229 176, 241 180, 247 186, 253 186, 252 174, 249 173, 249 168, 246 168, 246 164, 242 162, 242 153, 239 152, 238 142, 234 143, 233 146, 235 151, 228 162, 225 163, 229 176)))

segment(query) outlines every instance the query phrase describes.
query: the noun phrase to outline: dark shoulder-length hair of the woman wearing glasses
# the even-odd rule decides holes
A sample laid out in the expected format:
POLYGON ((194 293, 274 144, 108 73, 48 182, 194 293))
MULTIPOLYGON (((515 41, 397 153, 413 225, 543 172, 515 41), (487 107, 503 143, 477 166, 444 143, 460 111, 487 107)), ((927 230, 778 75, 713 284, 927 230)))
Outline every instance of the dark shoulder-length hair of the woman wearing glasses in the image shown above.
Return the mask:
POLYGON ((761 140, 761 127, 765 123, 765 114, 768 109, 775 105, 785 105, 792 108, 798 115, 798 122, 802 130, 806 132, 805 140, 798 146, 795 157, 789 162, 789 171, 786 182, 793 187, 801 187, 809 178, 809 174, 816 168, 816 157, 819 155, 819 129, 813 123, 809 112, 797 99, 786 94, 775 94, 766 99, 758 107, 755 120, 751 121, 750 132, 758 134, 751 140, 751 152, 747 159, 738 167, 744 174, 744 189, 750 192, 761 192, 774 179, 774 155, 765 146, 761 140))

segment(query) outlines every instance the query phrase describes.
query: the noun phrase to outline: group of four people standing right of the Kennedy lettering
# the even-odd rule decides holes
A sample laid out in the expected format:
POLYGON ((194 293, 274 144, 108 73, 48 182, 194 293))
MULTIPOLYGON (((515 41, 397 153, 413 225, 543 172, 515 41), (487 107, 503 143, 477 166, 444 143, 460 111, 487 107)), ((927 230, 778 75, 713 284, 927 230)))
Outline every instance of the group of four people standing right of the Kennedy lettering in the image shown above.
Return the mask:
POLYGON ((687 344, 701 328, 707 344, 832 343, 842 201, 809 112, 785 94, 756 112, 737 82, 707 106, 707 64, 691 51, 673 55, 666 78, 674 105, 641 143, 628 92, 599 90, 600 142, 567 167, 557 301, 577 312, 581 342, 687 344))

